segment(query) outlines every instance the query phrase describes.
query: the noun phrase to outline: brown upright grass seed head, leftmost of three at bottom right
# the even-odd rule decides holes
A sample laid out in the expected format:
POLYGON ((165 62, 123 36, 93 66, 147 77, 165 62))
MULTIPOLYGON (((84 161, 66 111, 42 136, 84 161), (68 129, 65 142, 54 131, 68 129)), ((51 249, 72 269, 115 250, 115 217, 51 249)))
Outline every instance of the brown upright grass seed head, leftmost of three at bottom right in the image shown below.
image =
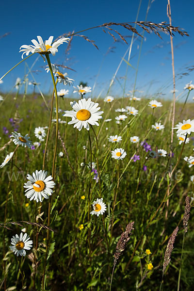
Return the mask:
POLYGON ((134 221, 129 222, 125 231, 121 234, 121 237, 119 241, 117 242, 116 250, 114 253, 114 266, 116 265, 116 262, 119 259, 120 255, 122 254, 122 252, 125 250, 127 242, 129 242, 130 240, 131 231, 132 229, 134 229, 133 225, 134 225, 134 221))

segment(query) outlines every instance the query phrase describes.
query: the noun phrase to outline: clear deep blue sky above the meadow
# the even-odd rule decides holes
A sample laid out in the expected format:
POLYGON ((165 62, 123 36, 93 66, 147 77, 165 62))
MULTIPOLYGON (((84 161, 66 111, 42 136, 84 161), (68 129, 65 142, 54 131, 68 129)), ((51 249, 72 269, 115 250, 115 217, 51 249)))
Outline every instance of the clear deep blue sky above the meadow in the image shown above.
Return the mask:
MULTIPOLYGON (((145 20, 148 0, 142 0, 138 20, 145 20)), ((1 25, 0 36, 9 33, 0 38, 0 76, 8 71, 12 66, 21 61, 19 48, 21 45, 30 45, 32 39, 41 35, 44 40, 50 35, 57 38, 63 33, 75 32, 97 26, 105 22, 132 22, 135 21, 139 1, 132 0, 74 0, 60 2, 56 1, 3 1, 1 3, 1 25)), ((167 1, 152 1, 148 12, 147 20, 155 23, 168 21, 166 15, 167 1)), ((172 25, 183 28, 189 33, 189 37, 182 37, 178 33, 173 38, 175 48, 175 73, 182 74, 187 72, 186 67, 194 65, 194 27, 193 27, 193 0, 187 1, 183 5, 182 0, 171 1, 172 25)), ((118 28, 123 35, 132 35, 118 28)), ((142 32, 141 29, 138 30, 142 32)), ((89 39, 95 41, 99 50, 81 37, 74 37, 71 50, 68 56, 65 55, 66 44, 59 47, 59 52, 55 57, 51 56, 51 62, 55 64, 67 65, 76 72, 65 70, 69 77, 74 79, 74 85, 80 81, 86 81, 93 87, 97 82, 94 94, 102 91, 101 96, 106 95, 109 83, 117 69, 124 53, 130 45, 130 38, 127 38, 129 45, 123 42, 113 42, 113 38, 102 32, 101 29, 94 29, 82 32, 89 39), (114 47, 113 52, 107 51, 114 47), (66 61, 66 58, 68 60, 66 61)), ((143 42, 140 56, 139 70, 137 75, 136 89, 144 91, 147 94, 157 94, 162 92, 162 97, 171 97, 169 93, 173 89, 172 85, 172 67, 170 54, 170 38, 161 33, 162 39, 154 33, 145 33, 146 40, 143 42)), ((139 55, 140 37, 136 39, 132 46, 130 64, 137 66, 139 55)), ((31 67, 38 54, 29 58, 26 62, 31 67)), ((126 57, 127 59, 127 57, 126 57)), ((37 82, 40 82, 40 88, 43 92, 48 92, 51 88, 49 74, 44 72, 44 66, 41 57, 33 66, 33 76, 37 82)), ((123 77, 126 73, 126 63, 123 62, 118 73, 118 81, 115 81, 111 88, 110 95, 121 96, 123 77)), ((25 75, 27 66, 24 63, 16 67, 9 75, 3 79, 0 89, 8 92, 15 84, 16 78, 21 79, 25 75)), ((64 72, 65 72, 64 71, 64 72)), ((126 92, 133 89, 135 70, 129 67, 128 79, 126 83, 126 92)), ((32 77, 29 75, 29 80, 32 77)), ((188 76, 183 76, 177 80, 178 94, 183 91, 186 83, 194 80, 194 72, 191 71, 188 76)), ((64 88, 62 85, 58 89, 64 88)), ((65 88, 67 89, 67 88, 65 88)), ((68 88, 69 89, 69 88, 68 88)), ((15 89, 14 89, 15 90, 15 89)), ((70 92, 72 92, 70 88, 70 92)), ((142 93, 137 93, 140 96, 142 93)), ((192 93, 190 94, 192 99, 192 93)), ((194 94, 193 94, 194 95, 194 94)))

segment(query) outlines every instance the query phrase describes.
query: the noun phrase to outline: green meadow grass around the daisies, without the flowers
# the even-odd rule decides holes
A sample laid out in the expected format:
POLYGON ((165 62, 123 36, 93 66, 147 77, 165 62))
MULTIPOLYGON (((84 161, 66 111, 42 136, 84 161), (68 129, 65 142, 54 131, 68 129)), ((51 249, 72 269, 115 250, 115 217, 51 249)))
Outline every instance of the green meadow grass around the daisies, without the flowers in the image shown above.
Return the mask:
MULTIPOLYGON (((50 107, 51 97, 45 98, 50 107)), ((73 99, 60 99, 59 108, 70 110, 71 100, 73 99)), ((93 126, 98 149, 94 131, 91 128, 89 130, 92 162, 96 163, 96 170, 97 160, 99 162, 97 172, 98 177, 100 173, 101 189, 99 181, 94 179, 95 173, 90 169, 91 149, 87 130, 78 131, 71 125, 59 124, 45 290, 109 290, 116 244, 129 222, 134 222, 133 230, 125 251, 120 250, 121 256, 116 261, 112 290, 159 290, 166 245, 178 226, 171 262, 162 279, 163 290, 177 290, 185 197, 193 197, 194 190, 194 183, 190 181, 193 168, 189 168, 183 158, 193 154, 193 140, 191 136, 190 143, 185 145, 180 162, 169 180, 169 173, 178 161, 182 145, 179 145, 175 133, 170 148, 171 102, 161 101, 163 106, 153 110, 147 106, 149 100, 146 96, 141 101, 132 102, 129 97, 117 98, 110 104, 98 99, 99 106, 104 111, 104 119, 105 116, 106 119, 112 119, 110 122, 102 119, 99 127, 93 126), (120 113, 115 112, 115 109, 131 104, 139 110, 138 115, 127 114, 127 120, 116 124, 115 117, 120 113), (156 131, 151 125, 158 121, 165 128, 156 131), (116 134, 122 136, 122 141, 116 144, 109 142, 108 137, 116 134), (139 136, 139 143, 130 142, 130 137, 134 135, 139 136), (145 139, 152 152, 146 152, 141 145, 145 139), (111 157, 111 151, 117 147, 124 148, 127 152, 122 161, 111 157), (167 151, 166 157, 153 158, 153 153, 161 148, 167 151), (172 158, 169 156, 170 149, 174 154, 172 158), (64 153, 63 157, 58 155, 61 151, 64 153), (135 154, 140 156, 136 162, 131 159, 135 154), (145 166, 146 171, 143 169, 145 166), (93 201, 101 197, 107 210, 98 217, 91 215, 93 201)), ((182 104, 177 103, 175 124, 182 119, 191 118, 193 107, 194 104, 187 103, 181 113, 182 104)), ((49 125, 50 113, 39 94, 27 95, 25 99, 22 95, 7 96, 0 110, 0 149, 9 142, 8 134, 14 131, 9 118, 15 118, 14 126, 18 127, 18 132, 22 135, 29 133, 32 142, 38 141, 34 136, 34 129, 49 125), (9 133, 3 133, 2 127, 6 127, 9 133)), ((62 113, 59 113, 59 118, 69 121, 62 113)), ((49 175, 52 173, 55 124, 52 122, 45 161, 45 170, 49 175)), ((24 195, 23 188, 27 174, 32 175, 36 169, 42 169, 45 141, 40 144, 33 150, 19 146, 13 163, 10 161, 0 169, 0 249, 3 274, 0 286, 3 289, 6 280, 6 290, 42 290, 49 202, 44 199, 41 206, 40 202, 30 201, 24 195), (3 222, 6 223, 4 227, 3 222), (17 225, 11 224, 12 222, 20 223, 17 225), (27 251, 25 257, 17 258, 9 245, 12 236, 16 233, 19 235, 24 227, 33 241, 33 248, 27 251)), ((3 147, 1 160, 15 148, 13 142, 3 147)), ((194 281, 194 271, 191 268, 194 255, 192 213, 193 208, 189 230, 184 238, 180 290, 192 290, 194 281)))

